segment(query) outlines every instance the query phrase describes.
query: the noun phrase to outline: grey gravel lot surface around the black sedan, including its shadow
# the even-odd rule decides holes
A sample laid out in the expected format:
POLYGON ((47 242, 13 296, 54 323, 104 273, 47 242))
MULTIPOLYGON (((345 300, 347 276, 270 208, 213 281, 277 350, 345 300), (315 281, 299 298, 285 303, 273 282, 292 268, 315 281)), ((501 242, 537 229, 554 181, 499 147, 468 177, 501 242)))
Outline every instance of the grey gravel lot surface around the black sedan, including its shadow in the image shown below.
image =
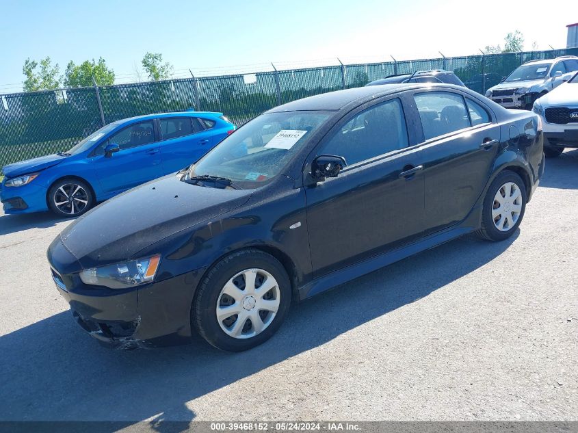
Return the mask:
POLYGON ((0 420, 576 420, 578 150, 546 171, 508 241, 359 278, 241 354, 101 347, 49 276, 69 222, 0 213, 0 420))

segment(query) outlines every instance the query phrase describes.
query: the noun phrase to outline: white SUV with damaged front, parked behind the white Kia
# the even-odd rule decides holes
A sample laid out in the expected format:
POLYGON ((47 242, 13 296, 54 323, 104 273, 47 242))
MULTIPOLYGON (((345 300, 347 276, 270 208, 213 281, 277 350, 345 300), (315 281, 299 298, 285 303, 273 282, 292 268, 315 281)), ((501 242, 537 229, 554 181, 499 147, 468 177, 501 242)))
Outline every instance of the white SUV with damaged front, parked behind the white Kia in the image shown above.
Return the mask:
POLYGON ((531 60, 518 66, 486 96, 505 108, 531 109, 536 99, 568 81, 578 70, 578 57, 564 55, 550 60, 531 60))

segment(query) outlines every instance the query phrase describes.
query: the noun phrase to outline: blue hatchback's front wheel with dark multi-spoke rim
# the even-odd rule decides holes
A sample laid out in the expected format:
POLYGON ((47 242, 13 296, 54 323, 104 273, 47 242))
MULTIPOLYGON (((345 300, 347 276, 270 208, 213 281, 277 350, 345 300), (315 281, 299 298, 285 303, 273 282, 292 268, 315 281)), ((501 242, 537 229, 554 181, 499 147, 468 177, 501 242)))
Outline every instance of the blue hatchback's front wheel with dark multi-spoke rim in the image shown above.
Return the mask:
POLYGON ((82 215, 94 205, 92 189, 79 179, 61 179, 50 187, 48 205, 58 216, 71 218, 82 215))

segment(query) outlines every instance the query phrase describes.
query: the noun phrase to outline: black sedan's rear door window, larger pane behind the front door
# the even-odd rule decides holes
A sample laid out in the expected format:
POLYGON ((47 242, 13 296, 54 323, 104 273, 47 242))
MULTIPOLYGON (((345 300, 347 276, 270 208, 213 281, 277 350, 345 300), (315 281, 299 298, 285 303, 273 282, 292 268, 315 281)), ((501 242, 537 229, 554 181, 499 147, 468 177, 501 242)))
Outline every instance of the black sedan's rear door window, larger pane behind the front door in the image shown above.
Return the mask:
POLYGON ((418 93, 414 99, 425 140, 471 127, 464 99, 459 94, 418 93))

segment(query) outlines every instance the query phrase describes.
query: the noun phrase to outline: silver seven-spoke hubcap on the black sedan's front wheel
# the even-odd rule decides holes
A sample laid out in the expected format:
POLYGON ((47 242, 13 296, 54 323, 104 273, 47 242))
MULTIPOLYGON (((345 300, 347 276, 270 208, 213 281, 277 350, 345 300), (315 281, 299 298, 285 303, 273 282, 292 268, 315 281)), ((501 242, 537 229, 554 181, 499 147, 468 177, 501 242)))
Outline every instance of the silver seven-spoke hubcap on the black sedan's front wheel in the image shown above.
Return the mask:
POLYGON ((221 289, 217 320, 230 337, 248 339, 270 326, 279 303, 279 286, 272 274, 262 269, 244 270, 221 289))

